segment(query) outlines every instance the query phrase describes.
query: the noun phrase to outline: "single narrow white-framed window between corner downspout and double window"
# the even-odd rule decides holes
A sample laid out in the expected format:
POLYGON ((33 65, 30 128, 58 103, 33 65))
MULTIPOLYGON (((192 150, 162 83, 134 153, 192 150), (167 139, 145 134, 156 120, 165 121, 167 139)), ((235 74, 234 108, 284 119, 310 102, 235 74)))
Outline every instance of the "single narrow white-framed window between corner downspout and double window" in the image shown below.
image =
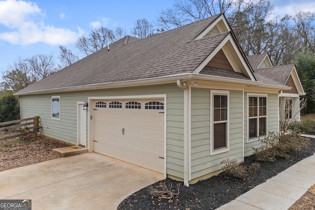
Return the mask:
POLYGON ((229 91, 211 90, 211 151, 218 154, 229 150, 229 91))

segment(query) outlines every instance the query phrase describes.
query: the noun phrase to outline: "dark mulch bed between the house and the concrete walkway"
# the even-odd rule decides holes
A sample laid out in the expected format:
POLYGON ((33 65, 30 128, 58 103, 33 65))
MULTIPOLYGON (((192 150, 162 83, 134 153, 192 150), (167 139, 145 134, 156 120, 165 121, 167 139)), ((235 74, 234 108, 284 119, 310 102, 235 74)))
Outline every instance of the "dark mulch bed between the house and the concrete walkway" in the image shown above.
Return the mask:
MULTIPOLYGON (((314 153, 315 139, 311 139, 310 146, 305 147, 293 157, 278 159, 273 163, 261 162, 257 172, 250 174, 245 180, 229 178, 224 172, 210 179, 190 184, 189 187, 184 186, 183 182, 171 179, 162 180, 151 186, 157 187, 160 182, 165 182, 166 186, 172 184, 177 192, 176 184, 181 183, 180 194, 171 199, 158 199, 149 193, 148 186, 128 196, 120 203, 118 210, 214 210, 314 153)), ((252 162, 254 162, 253 155, 246 157, 244 164, 250 165, 252 162)))

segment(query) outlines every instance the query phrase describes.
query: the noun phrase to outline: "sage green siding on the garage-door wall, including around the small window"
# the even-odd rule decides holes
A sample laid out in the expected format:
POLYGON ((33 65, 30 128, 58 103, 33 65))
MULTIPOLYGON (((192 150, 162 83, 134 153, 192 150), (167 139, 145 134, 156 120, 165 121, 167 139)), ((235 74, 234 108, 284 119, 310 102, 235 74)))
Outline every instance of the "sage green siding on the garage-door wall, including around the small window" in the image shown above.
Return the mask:
MULTIPOLYGON (((166 173, 183 179, 184 173, 184 90, 176 84, 22 95, 21 117, 40 117, 40 133, 73 145, 77 144, 77 102, 88 97, 167 94, 166 173), (51 117, 51 96, 61 96, 61 120, 51 117)), ((89 114, 87 114, 88 118, 89 114)), ((87 124, 88 126, 88 124, 87 124)), ((89 137, 87 128, 87 139, 89 137)))

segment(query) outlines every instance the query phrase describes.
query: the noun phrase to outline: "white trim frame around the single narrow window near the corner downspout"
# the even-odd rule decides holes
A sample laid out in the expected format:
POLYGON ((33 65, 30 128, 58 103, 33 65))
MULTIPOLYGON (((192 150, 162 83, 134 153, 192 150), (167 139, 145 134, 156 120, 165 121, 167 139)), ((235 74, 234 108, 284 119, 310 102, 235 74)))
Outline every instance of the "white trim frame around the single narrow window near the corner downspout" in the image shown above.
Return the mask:
MULTIPOLYGON (((223 121, 221 121, 223 122, 223 121)), ((225 122, 225 120, 224 120, 225 122)), ((229 123, 230 123, 230 91, 228 90, 210 90, 210 155, 220 154, 230 150, 230 138, 229 138, 229 123), (226 119, 226 148, 214 150, 214 139, 213 139, 213 95, 227 95, 227 119, 226 119)))

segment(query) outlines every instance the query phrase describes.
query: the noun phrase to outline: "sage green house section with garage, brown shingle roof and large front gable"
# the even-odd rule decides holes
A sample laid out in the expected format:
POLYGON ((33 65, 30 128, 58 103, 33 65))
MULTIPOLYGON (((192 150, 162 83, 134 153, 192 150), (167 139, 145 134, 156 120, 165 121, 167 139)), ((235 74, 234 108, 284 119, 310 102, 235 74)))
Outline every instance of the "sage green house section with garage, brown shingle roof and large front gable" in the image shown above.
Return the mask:
POLYGON ((289 90, 254 73, 220 14, 126 36, 16 94, 42 135, 189 185, 278 132, 279 93, 289 90))

